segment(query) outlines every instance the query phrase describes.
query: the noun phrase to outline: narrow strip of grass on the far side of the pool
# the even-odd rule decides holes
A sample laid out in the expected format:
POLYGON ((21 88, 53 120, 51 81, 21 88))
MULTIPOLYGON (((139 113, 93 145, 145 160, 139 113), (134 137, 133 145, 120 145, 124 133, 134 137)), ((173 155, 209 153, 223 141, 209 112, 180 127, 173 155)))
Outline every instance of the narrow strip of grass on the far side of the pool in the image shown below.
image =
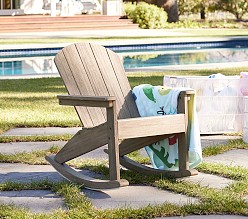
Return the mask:
MULTIPOLYGON (((152 31, 152 30, 151 30, 152 31)), ((54 43, 74 43, 74 42, 106 42, 106 41, 139 41, 145 39, 164 39, 167 38, 184 38, 184 37, 234 37, 234 36, 247 36, 247 27, 243 28, 175 28, 165 29, 165 33, 169 32, 168 36, 102 36, 102 37, 37 37, 37 38, 2 38, 0 39, 0 45, 4 44, 54 44, 54 43)))

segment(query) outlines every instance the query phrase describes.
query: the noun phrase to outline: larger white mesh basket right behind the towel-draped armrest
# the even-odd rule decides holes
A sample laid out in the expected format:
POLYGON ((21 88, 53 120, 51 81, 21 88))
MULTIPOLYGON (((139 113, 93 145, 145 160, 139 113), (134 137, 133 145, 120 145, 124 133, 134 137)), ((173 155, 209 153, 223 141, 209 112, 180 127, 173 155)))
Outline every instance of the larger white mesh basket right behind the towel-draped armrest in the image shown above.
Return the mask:
MULTIPOLYGON (((248 79, 245 80, 248 86, 248 79)), ((239 77, 165 76, 164 85, 196 90, 201 134, 242 132, 244 109, 239 77)))

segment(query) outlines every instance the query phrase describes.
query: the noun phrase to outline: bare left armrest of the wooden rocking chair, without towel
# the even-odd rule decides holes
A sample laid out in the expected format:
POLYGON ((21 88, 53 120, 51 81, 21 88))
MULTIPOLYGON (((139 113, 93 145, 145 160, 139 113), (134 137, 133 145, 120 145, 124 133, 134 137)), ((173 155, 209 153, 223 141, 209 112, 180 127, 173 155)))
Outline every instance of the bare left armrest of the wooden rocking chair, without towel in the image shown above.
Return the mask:
POLYGON ((113 107, 116 100, 113 96, 81 96, 81 95, 58 95, 60 105, 88 106, 88 107, 113 107))

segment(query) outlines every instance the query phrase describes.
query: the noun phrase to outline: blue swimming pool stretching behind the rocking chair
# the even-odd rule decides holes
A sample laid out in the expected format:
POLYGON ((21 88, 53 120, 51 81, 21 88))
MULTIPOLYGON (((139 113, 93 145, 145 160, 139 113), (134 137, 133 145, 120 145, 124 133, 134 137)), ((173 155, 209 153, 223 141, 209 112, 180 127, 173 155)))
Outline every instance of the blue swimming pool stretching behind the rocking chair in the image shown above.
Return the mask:
MULTIPOLYGON (((126 71, 182 68, 202 64, 242 63, 248 66, 248 40, 106 46, 119 54, 126 71)), ((57 74, 58 48, 0 50, 0 76, 57 74)))

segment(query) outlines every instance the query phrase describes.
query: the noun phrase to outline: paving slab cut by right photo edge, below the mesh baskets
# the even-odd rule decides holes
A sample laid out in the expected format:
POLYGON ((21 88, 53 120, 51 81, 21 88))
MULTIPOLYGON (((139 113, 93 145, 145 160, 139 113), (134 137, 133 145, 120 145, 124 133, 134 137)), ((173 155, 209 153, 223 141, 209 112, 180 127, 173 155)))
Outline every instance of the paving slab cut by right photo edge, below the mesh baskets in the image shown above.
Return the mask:
POLYGON ((248 168, 248 150, 230 150, 216 156, 205 157, 204 161, 248 168))

